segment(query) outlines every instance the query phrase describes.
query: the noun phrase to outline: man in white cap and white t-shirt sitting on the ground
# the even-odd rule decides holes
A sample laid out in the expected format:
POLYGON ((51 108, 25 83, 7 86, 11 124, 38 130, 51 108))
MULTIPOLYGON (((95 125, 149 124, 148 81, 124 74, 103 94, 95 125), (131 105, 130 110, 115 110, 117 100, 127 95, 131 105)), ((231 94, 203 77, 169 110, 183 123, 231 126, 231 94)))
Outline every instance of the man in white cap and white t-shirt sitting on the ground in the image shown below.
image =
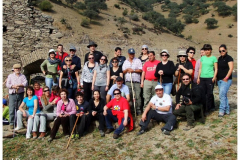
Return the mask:
POLYGON ((166 123, 161 129, 162 133, 166 135, 170 135, 170 131, 173 130, 173 127, 176 124, 176 117, 172 114, 171 97, 163 92, 163 87, 161 85, 155 87, 155 92, 156 95, 151 98, 142 114, 140 121, 141 129, 137 135, 145 133, 151 119, 166 123))

